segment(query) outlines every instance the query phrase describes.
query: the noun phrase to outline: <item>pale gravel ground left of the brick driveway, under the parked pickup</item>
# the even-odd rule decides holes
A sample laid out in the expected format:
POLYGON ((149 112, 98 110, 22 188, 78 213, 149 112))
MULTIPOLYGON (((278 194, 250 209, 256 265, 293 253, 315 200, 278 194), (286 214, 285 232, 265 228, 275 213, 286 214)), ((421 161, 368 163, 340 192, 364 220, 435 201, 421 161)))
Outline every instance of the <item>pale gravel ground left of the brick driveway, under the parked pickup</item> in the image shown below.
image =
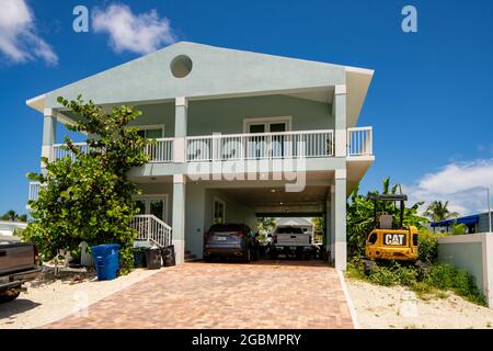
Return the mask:
MULTIPOLYGON (((27 286, 15 301, 0 305, 0 329, 37 328, 74 313, 159 270, 137 269, 113 281, 99 282, 94 274, 71 273, 60 280, 44 274, 27 286)), ((90 308, 90 307, 89 307, 90 308)))

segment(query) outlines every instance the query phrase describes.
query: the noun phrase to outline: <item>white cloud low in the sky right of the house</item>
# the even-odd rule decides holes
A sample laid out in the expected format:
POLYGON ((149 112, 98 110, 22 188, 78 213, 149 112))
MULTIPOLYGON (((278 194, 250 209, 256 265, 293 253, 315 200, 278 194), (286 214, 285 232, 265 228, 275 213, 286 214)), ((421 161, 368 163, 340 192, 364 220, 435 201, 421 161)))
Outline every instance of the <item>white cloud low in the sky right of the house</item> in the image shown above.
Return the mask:
POLYGON ((448 201, 449 210, 461 215, 488 210, 486 188, 493 191, 493 159, 452 162, 404 186, 411 202, 448 201))

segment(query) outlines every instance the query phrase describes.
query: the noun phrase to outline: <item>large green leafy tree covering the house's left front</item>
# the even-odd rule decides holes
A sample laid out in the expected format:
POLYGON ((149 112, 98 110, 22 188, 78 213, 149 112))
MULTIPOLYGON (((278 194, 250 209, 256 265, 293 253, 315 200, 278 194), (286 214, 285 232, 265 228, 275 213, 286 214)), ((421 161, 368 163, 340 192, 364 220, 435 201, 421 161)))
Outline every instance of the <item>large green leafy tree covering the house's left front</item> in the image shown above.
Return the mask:
POLYGON ((59 250, 77 250, 81 241, 89 246, 116 242, 130 268, 137 234, 129 225, 138 213, 133 195, 140 191, 127 172, 148 161, 144 150, 150 141, 128 124, 141 113, 128 106, 104 113, 81 97, 73 101, 58 98, 58 102, 79 116, 76 125, 67 128, 91 136, 88 151, 66 137, 66 149, 73 157, 43 158, 46 172, 28 174, 42 188, 38 199, 30 202, 33 220, 23 238, 37 245, 44 260, 56 258, 59 250))

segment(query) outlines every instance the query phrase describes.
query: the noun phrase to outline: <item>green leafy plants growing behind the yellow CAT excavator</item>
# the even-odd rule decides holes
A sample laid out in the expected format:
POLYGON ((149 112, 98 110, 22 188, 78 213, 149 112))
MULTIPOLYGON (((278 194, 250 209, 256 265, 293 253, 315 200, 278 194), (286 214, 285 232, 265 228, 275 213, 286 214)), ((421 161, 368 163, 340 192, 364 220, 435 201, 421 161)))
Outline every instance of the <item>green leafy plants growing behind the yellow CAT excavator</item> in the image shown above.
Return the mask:
MULTIPOLYGON (((391 186, 390 178, 387 178, 382 184, 382 194, 395 194, 401 191, 400 184, 391 186)), ((368 192, 368 194, 378 194, 379 191, 368 192)), ((417 202, 411 207, 404 207, 403 225, 405 227, 416 226, 421 228, 428 220, 417 214, 419 207, 423 202, 417 202)), ((395 220, 400 215, 400 206, 394 202, 380 202, 379 212, 386 212, 394 216, 395 220)), ((347 250, 349 257, 360 257, 365 250, 366 237, 374 227, 374 202, 367 195, 362 195, 356 189, 346 205, 346 225, 347 225, 347 250)))

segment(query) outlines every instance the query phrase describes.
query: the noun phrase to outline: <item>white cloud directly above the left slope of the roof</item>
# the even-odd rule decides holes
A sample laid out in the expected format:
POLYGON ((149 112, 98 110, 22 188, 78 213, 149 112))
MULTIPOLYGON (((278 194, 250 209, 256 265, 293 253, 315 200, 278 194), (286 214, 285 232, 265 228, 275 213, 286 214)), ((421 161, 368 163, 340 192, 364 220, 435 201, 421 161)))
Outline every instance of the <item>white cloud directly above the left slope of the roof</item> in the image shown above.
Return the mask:
POLYGON ((125 4, 112 4, 104 11, 93 11, 92 26, 95 32, 110 34, 110 44, 117 53, 148 54, 175 42, 170 21, 160 19, 156 10, 134 14, 125 4))

